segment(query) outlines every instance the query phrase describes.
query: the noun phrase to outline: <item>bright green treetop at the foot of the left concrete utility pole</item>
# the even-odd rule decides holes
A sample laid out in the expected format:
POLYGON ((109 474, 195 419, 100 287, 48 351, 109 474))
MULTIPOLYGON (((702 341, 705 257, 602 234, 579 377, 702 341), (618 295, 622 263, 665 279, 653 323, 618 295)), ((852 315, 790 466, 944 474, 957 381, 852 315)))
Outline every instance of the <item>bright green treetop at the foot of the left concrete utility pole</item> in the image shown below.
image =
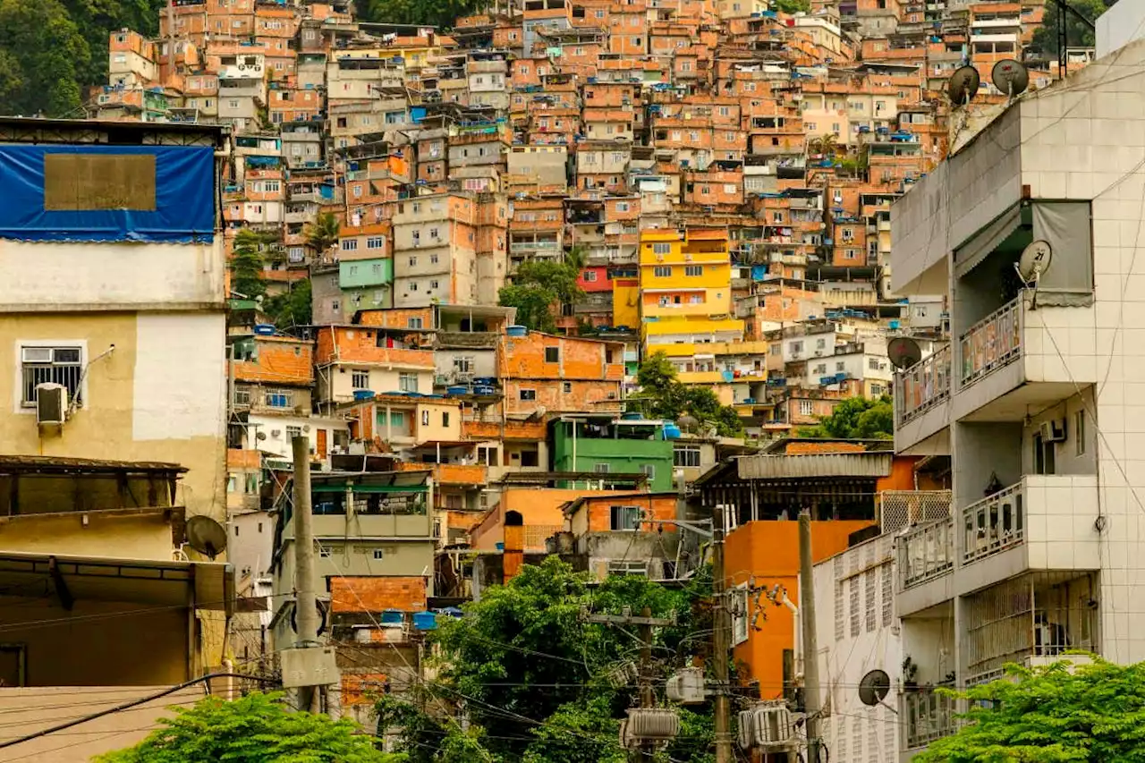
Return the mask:
POLYGON ((232 702, 218 697, 191 708, 173 708, 163 729, 134 747, 109 753, 100 763, 398 763, 374 747, 353 721, 294 713, 281 694, 255 692, 232 702))

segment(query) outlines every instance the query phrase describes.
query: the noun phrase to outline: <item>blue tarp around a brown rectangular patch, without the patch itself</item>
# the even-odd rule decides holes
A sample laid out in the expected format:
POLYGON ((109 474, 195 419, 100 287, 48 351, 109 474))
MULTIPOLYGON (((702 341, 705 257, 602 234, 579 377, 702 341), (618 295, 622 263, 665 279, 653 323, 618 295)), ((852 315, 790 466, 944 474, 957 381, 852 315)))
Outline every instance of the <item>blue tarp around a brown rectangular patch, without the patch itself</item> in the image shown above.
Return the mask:
MULTIPOLYGON (((56 188, 60 182, 61 179, 54 179, 56 188)), ((97 183, 97 179, 88 178, 85 188, 90 191, 97 183)), ((3 189, 0 238, 188 243, 208 242, 214 237, 214 149, 211 148, 0 145, 0 188, 3 189), (47 156, 56 154, 153 156, 153 209, 150 205, 142 210, 46 209, 47 156)), ((118 192, 118 189, 112 188, 110 192, 118 192)))

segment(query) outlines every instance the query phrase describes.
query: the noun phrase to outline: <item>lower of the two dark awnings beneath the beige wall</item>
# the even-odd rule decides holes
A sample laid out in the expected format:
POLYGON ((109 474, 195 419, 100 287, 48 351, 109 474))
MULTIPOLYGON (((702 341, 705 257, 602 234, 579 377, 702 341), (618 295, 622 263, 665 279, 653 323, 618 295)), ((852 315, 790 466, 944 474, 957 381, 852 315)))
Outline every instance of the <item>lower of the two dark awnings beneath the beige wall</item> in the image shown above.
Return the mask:
POLYGON ((229 564, 0 553, 0 590, 33 591, 39 597, 37 583, 57 587, 57 575, 76 600, 132 603, 141 608, 194 606, 228 616, 235 607, 235 571, 229 564))

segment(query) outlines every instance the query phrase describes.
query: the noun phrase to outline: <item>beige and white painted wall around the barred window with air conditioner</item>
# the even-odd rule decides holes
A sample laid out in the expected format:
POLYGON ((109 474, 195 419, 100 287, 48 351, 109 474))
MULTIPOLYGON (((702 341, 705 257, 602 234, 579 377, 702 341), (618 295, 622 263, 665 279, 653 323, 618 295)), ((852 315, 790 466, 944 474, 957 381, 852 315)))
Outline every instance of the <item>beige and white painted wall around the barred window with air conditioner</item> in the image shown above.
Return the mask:
POLYGON ((221 521, 224 329, 223 314, 207 312, 0 314, 0 453, 177 463, 190 470, 188 513, 221 521), (62 432, 41 438, 34 411, 19 407, 22 340, 80 341, 88 360, 116 346, 88 368, 87 400, 62 432))

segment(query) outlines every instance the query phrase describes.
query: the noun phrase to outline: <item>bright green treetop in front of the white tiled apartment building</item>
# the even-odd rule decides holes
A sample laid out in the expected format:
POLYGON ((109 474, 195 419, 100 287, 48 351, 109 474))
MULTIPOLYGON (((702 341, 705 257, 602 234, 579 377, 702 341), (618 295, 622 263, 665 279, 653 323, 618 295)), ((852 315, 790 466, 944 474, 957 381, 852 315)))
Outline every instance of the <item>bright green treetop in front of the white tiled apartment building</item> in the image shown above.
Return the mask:
POLYGON ((955 694, 968 725, 915 756, 918 763, 1145 761, 1145 663, 1093 658, 1071 670, 1006 667, 1009 676, 955 694))

